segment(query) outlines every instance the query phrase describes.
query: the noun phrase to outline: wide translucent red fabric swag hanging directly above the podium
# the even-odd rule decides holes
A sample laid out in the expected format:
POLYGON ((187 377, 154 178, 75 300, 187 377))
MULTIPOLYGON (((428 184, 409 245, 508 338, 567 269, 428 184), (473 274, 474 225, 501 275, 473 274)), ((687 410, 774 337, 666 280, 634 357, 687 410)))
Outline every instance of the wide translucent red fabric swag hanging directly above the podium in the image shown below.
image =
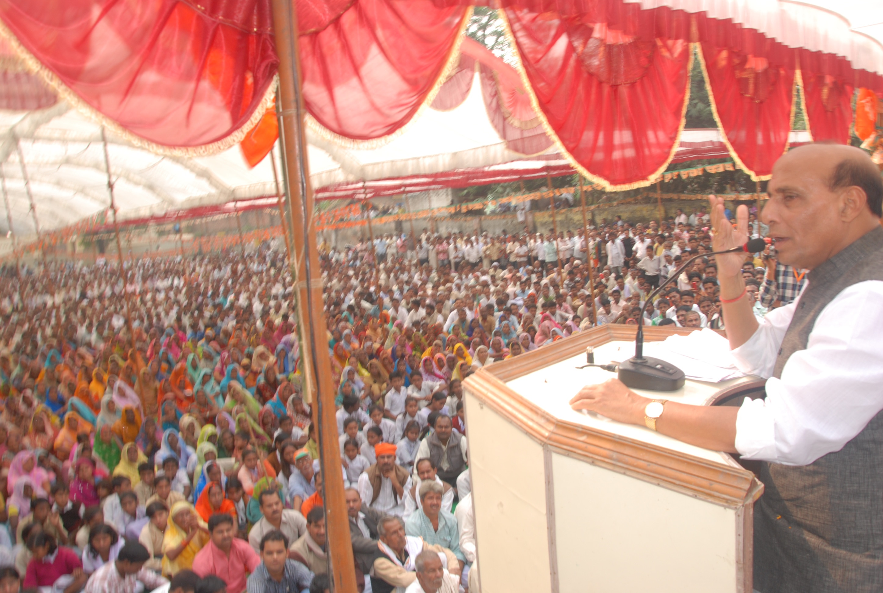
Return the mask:
POLYGON ((665 169, 683 125, 689 15, 621 0, 506 15, 540 109, 587 177, 624 189, 665 169))

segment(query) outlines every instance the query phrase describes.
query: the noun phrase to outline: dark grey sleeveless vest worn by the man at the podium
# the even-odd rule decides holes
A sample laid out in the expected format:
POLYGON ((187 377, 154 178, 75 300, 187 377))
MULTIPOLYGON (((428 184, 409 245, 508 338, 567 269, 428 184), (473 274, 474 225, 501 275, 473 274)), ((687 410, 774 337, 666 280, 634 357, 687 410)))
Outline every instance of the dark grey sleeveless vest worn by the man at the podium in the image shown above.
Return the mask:
MULTIPOLYGON (((808 280, 782 340, 775 377, 791 354, 806 348, 816 318, 837 294, 865 280, 883 280, 883 228, 811 270, 808 280)), ((883 385, 871 388, 883 397, 883 385)), ((755 589, 883 591, 883 412, 840 451, 802 467, 765 462, 759 477, 765 490, 754 508, 755 589)))

